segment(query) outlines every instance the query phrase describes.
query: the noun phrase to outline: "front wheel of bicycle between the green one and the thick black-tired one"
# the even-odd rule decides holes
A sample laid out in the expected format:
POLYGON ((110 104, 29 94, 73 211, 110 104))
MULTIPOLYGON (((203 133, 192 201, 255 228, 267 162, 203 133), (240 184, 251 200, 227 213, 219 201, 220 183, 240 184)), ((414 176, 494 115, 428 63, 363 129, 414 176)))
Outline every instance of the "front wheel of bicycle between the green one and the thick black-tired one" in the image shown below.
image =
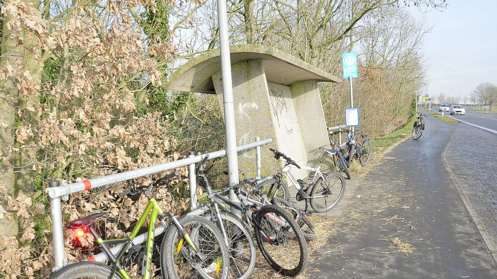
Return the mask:
MULTIPOLYGON (((252 235, 238 218, 227 213, 221 213, 220 216, 230 251, 230 279, 247 279, 255 267, 256 260, 252 235)), ((216 216, 206 214, 204 217, 219 225, 216 216)))

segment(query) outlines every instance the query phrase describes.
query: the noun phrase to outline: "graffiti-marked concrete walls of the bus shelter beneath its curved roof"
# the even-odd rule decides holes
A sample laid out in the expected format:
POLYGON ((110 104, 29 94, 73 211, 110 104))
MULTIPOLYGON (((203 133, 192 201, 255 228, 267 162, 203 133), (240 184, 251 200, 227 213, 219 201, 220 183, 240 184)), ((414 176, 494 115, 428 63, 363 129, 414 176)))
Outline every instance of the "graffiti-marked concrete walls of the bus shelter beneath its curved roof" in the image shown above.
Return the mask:
MULTIPOLYGON (((212 82, 222 107, 222 75, 217 72, 212 82)), ((284 86, 266 80, 260 60, 232 65, 233 97, 237 145, 253 142, 256 136, 275 141, 261 148, 262 175, 276 173, 276 160, 269 147, 278 149, 297 163, 317 166, 318 149, 329 146, 321 96, 316 81, 302 81, 284 86)), ((255 151, 239 153, 241 179, 256 175, 255 151)), ((292 169, 296 178, 307 172, 292 169)))

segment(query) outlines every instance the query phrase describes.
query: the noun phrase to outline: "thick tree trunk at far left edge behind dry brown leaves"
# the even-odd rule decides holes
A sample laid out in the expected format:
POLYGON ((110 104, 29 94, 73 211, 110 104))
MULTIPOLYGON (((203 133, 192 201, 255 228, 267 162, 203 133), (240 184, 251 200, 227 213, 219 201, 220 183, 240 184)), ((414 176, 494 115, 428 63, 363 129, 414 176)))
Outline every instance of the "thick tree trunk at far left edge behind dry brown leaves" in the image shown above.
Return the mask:
MULTIPOLYGON (((27 4, 38 9, 39 0, 27 0, 27 4)), ((15 70, 13 75, 6 77, 0 81, 3 95, 0 97, 0 120, 7 124, 6 129, 0 130, 0 149, 9 146, 19 148, 17 152, 9 152, 5 155, 8 159, 8 164, 2 164, 0 168, 0 181, 5 183, 8 194, 12 198, 16 198, 20 194, 30 195, 33 193, 33 162, 36 160, 36 138, 39 125, 39 89, 41 82, 42 65, 39 58, 35 58, 34 53, 39 53, 39 39, 29 32, 27 29, 22 31, 23 45, 17 45, 15 31, 7 30, 7 22, 10 19, 4 17, 4 30, 2 36, 2 57, 0 65, 4 66, 7 63, 14 68, 17 60, 22 62, 22 69, 15 70), (34 83, 36 84, 36 92, 32 95, 22 96, 19 94, 17 76, 23 76, 29 71, 34 83), (17 111, 22 114, 17 118, 17 111), (34 111, 33 111, 34 110, 34 111), (21 145, 15 139, 15 126, 30 127, 33 135, 28 136, 21 145)), ((19 31, 17 31, 19 32, 19 31)), ((4 125, 5 126, 5 125, 4 125)), ((4 208, 6 201, 3 201, 4 208)), ((17 236, 21 244, 27 245, 30 241, 21 240, 22 233, 25 228, 31 225, 32 219, 0 219, 2 232, 0 235, 17 236), (4 229, 5 227, 5 229, 4 229)))

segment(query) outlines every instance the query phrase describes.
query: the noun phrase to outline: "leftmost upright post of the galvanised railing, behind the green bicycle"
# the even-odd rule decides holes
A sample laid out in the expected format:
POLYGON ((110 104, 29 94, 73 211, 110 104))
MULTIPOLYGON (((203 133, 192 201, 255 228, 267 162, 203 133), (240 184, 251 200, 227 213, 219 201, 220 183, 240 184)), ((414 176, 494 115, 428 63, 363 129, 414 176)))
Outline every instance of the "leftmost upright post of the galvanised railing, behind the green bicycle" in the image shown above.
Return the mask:
MULTIPOLYGON (((60 181, 52 180, 49 182, 49 187, 59 187, 60 181)), ((50 199, 50 216, 52 219, 52 237, 54 239, 54 256, 55 266, 54 271, 61 269, 67 263, 64 251, 64 234, 62 232, 62 208, 60 197, 50 199)))

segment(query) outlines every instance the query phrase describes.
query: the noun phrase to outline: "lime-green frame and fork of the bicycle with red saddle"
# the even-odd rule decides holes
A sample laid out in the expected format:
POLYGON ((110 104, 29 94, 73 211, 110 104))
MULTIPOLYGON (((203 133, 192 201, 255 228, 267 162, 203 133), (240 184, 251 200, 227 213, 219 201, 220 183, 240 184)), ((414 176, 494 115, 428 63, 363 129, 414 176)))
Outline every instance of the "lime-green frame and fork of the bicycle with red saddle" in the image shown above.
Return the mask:
MULTIPOLYGON (((152 254, 154 251, 154 236, 155 236, 155 227, 157 224, 157 220, 159 220, 162 223, 162 226, 167 228, 169 224, 167 224, 163 217, 165 215, 169 215, 170 220, 174 223, 175 226, 177 226, 182 232, 183 238, 187 241, 187 243, 193 247, 195 252, 198 252, 199 249, 196 247, 194 242, 191 240, 190 236, 188 233, 186 233, 184 227, 179 223, 179 221, 176 219, 174 214, 171 212, 164 213, 162 208, 160 207, 159 203, 155 198, 149 199, 149 202, 147 204, 147 207, 145 208, 144 212, 138 219, 137 225, 134 226, 133 231, 131 234, 128 236, 126 235, 126 238, 116 238, 116 239, 107 239, 104 240, 100 235, 97 234, 97 232, 92 228, 92 234, 94 235, 97 244, 99 244, 102 249, 104 250, 105 254, 107 257, 111 260, 113 264, 116 265, 117 272, 122 276, 123 279, 130 279, 131 277, 127 274, 126 270, 119 264, 119 259, 121 256, 124 254, 124 252, 128 249, 130 244, 133 244, 133 239, 138 235, 138 232, 140 229, 143 227, 143 224, 145 220, 147 219, 148 215, 150 214, 150 224, 149 224, 149 230, 148 230, 148 235, 147 235, 147 248, 146 248, 146 262, 145 265, 143 266, 145 268, 145 273, 143 275, 143 279, 149 279, 151 277, 151 267, 152 267, 152 254), (183 229, 183 230, 182 230, 183 229), (114 254, 110 251, 108 244, 119 244, 119 243, 124 243, 122 246, 121 250, 117 253, 117 256, 114 256, 114 254)), ((92 258, 88 258, 88 260, 92 260, 92 258)), ((139 265, 140 266, 140 265, 139 265)))

